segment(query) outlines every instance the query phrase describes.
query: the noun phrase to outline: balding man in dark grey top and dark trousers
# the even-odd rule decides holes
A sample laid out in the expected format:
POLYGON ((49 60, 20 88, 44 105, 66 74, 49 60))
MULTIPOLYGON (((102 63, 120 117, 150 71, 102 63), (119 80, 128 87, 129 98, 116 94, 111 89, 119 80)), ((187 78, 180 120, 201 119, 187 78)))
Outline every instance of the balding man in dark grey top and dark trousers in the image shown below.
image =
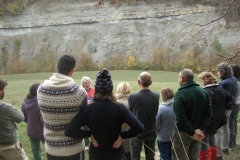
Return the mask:
POLYGON ((156 115, 159 105, 159 93, 152 92, 151 75, 142 72, 138 77, 140 91, 130 94, 128 104, 130 111, 144 125, 144 131, 131 138, 131 159, 140 160, 142 145, 144 144, 146 160, 154 160, 156 140, 156 115))

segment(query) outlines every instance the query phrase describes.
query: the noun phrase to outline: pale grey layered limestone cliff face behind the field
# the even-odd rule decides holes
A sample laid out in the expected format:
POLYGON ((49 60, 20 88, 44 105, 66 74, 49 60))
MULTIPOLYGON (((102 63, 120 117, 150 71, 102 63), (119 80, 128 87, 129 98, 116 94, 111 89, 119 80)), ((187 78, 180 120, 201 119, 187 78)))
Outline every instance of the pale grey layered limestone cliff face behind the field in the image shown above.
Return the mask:
POLYGON ((39 1, 21 15, 0 18, 0 45, 11 53, 14 40, 20 39, 22 58, 47 48, 56 54, 86 52, 94 61, 116 53, 126 55, 135 47, 138 60, 145 61, 155 46, 175 51, 196 44, 209 48, 215 37, 224 47, 235 46, 239 29, 226 29, 224 18, 203 27, 183 21, 206 24, 218 17, 214 7, 171 1, 120 6, 84 0, 39 1))

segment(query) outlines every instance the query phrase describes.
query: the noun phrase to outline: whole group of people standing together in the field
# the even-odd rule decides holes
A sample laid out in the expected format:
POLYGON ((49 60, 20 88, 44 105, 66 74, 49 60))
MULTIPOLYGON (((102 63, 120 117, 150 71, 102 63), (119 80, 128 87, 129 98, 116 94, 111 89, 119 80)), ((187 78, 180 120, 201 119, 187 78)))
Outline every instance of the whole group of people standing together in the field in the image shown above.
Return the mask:
MULTIPOLYGON (((163 160, 221 160, 236 145, 238 65, 217 65, 219 83, 211 72, 202 72, 201 86, 191 69, 183 69, 175 94, 169 86, 160 94, 151 91, 151 75, 142 72, 137 93, 121 82, 114 94, 106 68, 97 73, 93 88, 89 77, 81 85, 71 78, 75 64, 73 56, 62 55, 56 73, 30 86, 22 112, 0 101, 0 160, 28 159, 15 125, 22 121, 35 160, 42 159, 41 142, 48 160, 85 160, 86 148, 89 160, 140 160, 143 147, 145 159, 154 160, 156 140, 163 160)), ((6 86, 0 78, 1 99, 6 86)))

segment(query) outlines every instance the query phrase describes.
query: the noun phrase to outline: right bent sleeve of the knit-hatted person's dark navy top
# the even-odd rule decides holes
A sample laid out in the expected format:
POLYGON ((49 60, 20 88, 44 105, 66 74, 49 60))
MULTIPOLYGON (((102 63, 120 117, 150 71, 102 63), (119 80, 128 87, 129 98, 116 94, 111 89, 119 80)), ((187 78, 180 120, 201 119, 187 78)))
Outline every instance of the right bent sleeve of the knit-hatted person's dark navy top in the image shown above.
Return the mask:
POLYGON ((126 107, 122 107, 122 109, 124 115, 124 122, 127 123, 131 128, 121 131, 121 137, 126 139, 137 136, 144 130, 143 124, 133 115, 132 112, 130 112, 129 109, 127 109, 126 107))

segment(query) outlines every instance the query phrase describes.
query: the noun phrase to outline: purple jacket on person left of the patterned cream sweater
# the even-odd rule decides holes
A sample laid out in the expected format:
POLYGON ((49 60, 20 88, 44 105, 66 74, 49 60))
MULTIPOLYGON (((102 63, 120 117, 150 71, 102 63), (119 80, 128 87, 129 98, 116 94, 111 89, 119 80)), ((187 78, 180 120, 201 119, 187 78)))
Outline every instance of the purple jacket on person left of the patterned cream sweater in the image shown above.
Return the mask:
POLYGON ((28 136, 31 138, 44 138, 43 119, 37 103, 37 97, 24 99, 22 112, 25 116, 24 121, 27 123, 28 136))

